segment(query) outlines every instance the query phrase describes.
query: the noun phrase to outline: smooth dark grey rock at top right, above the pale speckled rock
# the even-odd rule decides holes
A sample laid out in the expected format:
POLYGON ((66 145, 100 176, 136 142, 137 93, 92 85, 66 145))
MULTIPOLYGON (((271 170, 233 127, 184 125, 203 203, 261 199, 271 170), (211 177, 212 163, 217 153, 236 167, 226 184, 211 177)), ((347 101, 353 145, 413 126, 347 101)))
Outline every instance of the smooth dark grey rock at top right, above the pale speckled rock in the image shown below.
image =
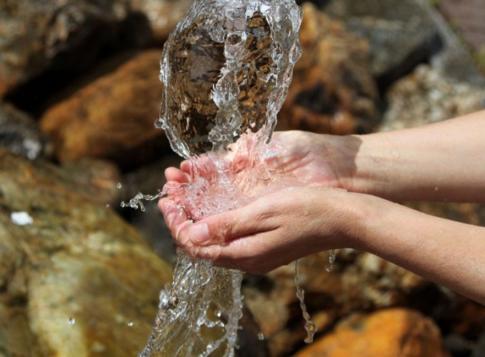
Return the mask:
POLYGON ((434 21, 414 0, 330 1, 324 10, 345 21, 350 31, 369 39, 372 72, 381 89, 429 59, 441 46, 434 21))

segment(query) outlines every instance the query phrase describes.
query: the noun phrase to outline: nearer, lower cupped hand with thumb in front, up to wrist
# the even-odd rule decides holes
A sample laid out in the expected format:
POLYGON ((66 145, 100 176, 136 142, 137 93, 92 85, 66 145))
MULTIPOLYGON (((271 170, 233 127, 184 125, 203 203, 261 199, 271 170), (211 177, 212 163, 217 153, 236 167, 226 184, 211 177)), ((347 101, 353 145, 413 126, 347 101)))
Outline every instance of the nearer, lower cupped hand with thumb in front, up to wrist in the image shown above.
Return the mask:
POLYGON ((263 274, 310 253, 351 246, 353 193, 321 186, 285 188, 197 223, 174 201, 159 207, 176 243, 215 266, 263 274))

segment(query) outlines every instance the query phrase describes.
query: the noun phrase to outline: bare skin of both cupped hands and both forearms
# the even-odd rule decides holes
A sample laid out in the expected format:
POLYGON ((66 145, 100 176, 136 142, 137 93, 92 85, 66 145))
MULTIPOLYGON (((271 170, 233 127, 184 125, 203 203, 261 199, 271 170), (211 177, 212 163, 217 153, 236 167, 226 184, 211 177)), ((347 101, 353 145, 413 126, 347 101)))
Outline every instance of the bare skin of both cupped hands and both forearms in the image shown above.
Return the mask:
MULTIPOLYGON (((356 248, 485 304, 485 228, 394 203, 485 203, 484 133, 485 111, 364 136, 275 133, 284 146, 271 167, 304 186, 196 223, 169 198, 159 207, 176 243, 216 266, 261 274, 317 251, 356 248)), ((188 182, 189 166, 167 169, 167 179, 188 182)))

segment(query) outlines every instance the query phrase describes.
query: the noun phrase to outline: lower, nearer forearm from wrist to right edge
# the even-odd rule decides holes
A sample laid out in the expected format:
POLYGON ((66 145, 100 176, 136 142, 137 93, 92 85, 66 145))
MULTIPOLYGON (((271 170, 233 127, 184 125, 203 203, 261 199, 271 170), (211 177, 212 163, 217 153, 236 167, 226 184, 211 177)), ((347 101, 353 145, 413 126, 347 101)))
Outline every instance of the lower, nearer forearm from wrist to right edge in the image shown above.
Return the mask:
POLYGON ((371 196, 356 200, 355 209, 355 248, 485 304, 485 228, 371 196))

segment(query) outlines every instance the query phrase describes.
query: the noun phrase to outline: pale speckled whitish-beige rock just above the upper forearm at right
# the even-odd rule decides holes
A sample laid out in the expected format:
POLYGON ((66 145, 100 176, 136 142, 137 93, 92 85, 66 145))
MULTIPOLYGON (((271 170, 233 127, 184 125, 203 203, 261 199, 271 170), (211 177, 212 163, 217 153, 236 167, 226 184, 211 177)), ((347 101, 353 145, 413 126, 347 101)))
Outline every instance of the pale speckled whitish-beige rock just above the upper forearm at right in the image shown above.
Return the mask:
POLYGON ((389 107, 377 131, 411 128, 479 111, 485 88, 456 82, 427 65, 396 82, 387 96, 389 107))

